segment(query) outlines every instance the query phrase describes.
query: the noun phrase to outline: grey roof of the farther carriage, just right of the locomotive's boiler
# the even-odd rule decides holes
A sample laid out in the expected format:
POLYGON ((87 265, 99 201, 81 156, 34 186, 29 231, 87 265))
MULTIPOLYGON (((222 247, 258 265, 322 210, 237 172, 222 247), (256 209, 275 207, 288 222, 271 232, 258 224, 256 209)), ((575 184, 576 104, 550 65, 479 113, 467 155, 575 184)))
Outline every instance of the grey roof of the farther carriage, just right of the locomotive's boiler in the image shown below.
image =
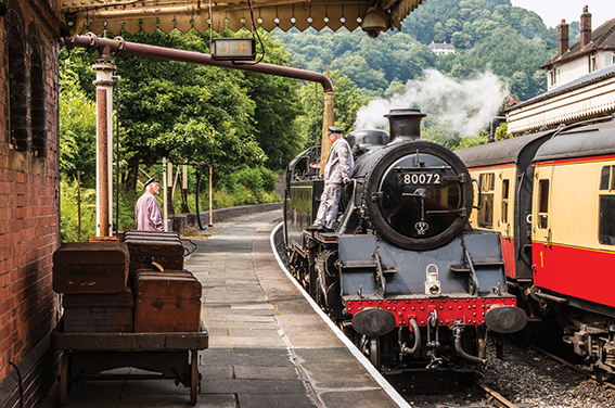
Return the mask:
POLYGON ((539 131, 537 133, 520 136, 499 142, 456 150, 454 153, 457 153, 470 168, 507 163, 516 164, 518 155, 526 145, 553 132, 554 130, 539 131))

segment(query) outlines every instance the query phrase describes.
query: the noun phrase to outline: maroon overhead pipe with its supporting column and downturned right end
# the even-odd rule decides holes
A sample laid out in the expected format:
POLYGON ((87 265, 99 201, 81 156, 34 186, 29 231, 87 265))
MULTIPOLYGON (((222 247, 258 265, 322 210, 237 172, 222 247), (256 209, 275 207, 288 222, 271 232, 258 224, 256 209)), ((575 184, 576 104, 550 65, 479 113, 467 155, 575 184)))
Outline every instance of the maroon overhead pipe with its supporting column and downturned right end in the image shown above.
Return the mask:
MULTIPOLYGON (((261 74, 267 74, 267 75, 276 75, 276 76, 282 76, 282 77, 286 77, 286 78, 294 78, 294 79, 300 79, 300 80, 307 80, 307 81, 311 81, 311 82, 319 82, 320 85, 322 85, 322 88, 324 90, 324 117, 323 117, 323 123, 322 123, 322 150, 321 150, 321 174, 323 171, 323 166, 324 163, 326 163, 326 157, 329 156, 329 151, 331 150, 331 143, 329 142, 329 138, 326 137, 326 129, 329 128, 329 126, 333 126, 333 84, 331 82, 331 80, 329 79, 329 77, 324 74, 320 74, 320 73, 315 73, 311 71, 304 71, 304 69, 297 69, 297 68, 292 68, 292 67, 287 67, 287 66, 280 66, 280 65, 272 65, 272 64, 265 64, 265 63, 233 63, 230 61, 214 61, 212 59, 212 55, 209 54, 204 54, 204 53, 200 53, 200 52, 192 52, 192 51, 183 51, 183 50, 175 50, 171 48, 164 48, 164 47, 156 47, 156 46, 148 46, 148 44, 142 44, 142 43, 137 43, 137 42, 126 42, 124 41, 124 39, 121 37, 115 37, 114 39, 108 39, 108 38, 100 38, 97 37, 93 33, 88 33, 85 36, 74 36, 74 37, 63 37, 61 39, 62 43, 67 48, 67 49, 73 49, 75 47, 79 47, 79 48, 85 48, 88 52, 93 52, 94 50, 99 51, 99 54, 101 55, 101 59, 107 59, 107 68, 103 68, 101 67, 101 77, 102 77, 102 72, 106 72, 105 69, 110 69, 108 73, 108 80, 112 82, 113 85, 113 80, 111 78, 111 75, 113 74, 113 71, 115 69, 115 65, 113 65, 113 60, 108 60, 108 58, 111 56, 111 53, 115 53, 115 55, 119 56, 121 54, 130 54, 130 55, 140 55, 140 56, 148 56, 148 58, 154 58, 154 59, 161 59, 161 60, 170 60, 170 61, 180 61, 180 62, 188 62, 188 63, 193 63, 193 64, 201 64, 201 65, 210 65, 210 66, 218 66, 218 67, 222 67, 222 68, 230 68, 230 69, 241 69, 241 71, 248 71, 248 72, 253 72, 253 73, 261 73, 261 74), (111 63, 108 63, 111 61, 111 63)), ((99 59, 99 60, 101 60, 99 59)), ((97 60, 97 63, 98 61, 97 60)), ((97 69, 97 64, 94 64, 94 69, 97 69)), ((97 82, 99 80, 103 80, 102 78, 99 79, 98 77, 99 75, 99 71, 97 71, 97 82)), ((106 75, 105 75, 106 78, 106 75)), ((103 80, 104 81, 104 80, 103 80)), ((101 87, 103 86, 103 84, 101 82, 101 87)), ((97 85, 98 87, 98 85, 97 85)), ((111 88, 110 88, 111 89, 111 88)), ((98 102, 98 93, 99 90, 97 90, 97 103, 99 105, 99 111, 102 109, 102 101, 99 103, 98 102)), ((102 94, 102 91, 101 91, 102 94)), ((106 95, 107 98, 107 107, 106 107, 106 117, 108 118, 108 123, 106 125, 106 132, 111 131, 111 93, 106 95)), ((102 114, 102 113, 101 113, 102 114)), ((98 126, 102 127, 103 124, 101 123, 101 119, 98 119, 98 126)), ((102 131, 103 129, 101 128, 100 131, 102 131)), ((98 133, 99 133, 99 128, 97 127, 97 143, 98 141, 98 133)), ((106 133, 105 133, 106 135, 106 133)), ((108 144, 108 138, 111 137, 111 135, 107 136, 107 144, 108 144)), ((105 148, 103 146, 97 146, 97 151, 104 151, 105 148)), ((111 148, 110 148, 111 149, 111 148)), ((108 157, 106 160, 106 163, 108 163, 110 169, 111 169, 111 150, 108 151, 108 157)), ((101 163, 101 165, 104 165, 101 163)), ((98 165, 98 161, 97 161, 97 168, 99 168, 98 165)), ((111 176, 106 176, 104 177, 104 179, 102 179, 101 173, 102 170, 98 169, 97 170, 97 186, 99 184, 99 182, 101 183, 101 190, 99 192, 98 188, 97 188, 97 225, 99 225, 100 222, 103 222, 103 220, 101 219, 101 221, 99 222, 99 213, 101 213, 101 216, 103 216, 103 213, 106 213, 107 216, 107 220, 105 221, 106 224, 108 224, 108 214, 111 214, 111 193, 106 193, 108 194, 108 207, 103 209, 102 205, 103 203, 106 203, 106 201, 104 201, 102 197, 99 201, 99 195, 102 193, 102 190, 104 190, 104 183, 106 182, 106 184, 108 186, 108 180, 111 179, 111 176), (100 181, 99 178, 101 178, 100 181), (101 205, 101 206, 99 206, 101 205)), ((105 190, 106 191, 106 190, 105 190)), ((106 225, 105 224, 105 225, 106 225)), ((108 226, 108 230, 111 230, 111 224, 108 226)), ((110 234, 110 232, 106 232, 106 234, 103 235, 104 231, 100 232, 100 235, 102 237, 107 237, 110 234)), ((99 235, 99 231, 97 228, 97 235, 99 235)))

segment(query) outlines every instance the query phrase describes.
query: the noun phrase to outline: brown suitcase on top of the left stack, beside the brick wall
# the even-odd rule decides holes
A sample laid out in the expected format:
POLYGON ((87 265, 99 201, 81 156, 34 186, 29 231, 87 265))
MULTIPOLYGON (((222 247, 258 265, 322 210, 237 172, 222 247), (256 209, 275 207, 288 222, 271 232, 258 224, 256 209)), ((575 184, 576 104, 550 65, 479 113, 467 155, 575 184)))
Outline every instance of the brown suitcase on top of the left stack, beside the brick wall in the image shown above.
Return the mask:
POLYGON ((130 255, 118 241, 71 242, 53 253, 53 290, 59 293, 126 291, 130 255))

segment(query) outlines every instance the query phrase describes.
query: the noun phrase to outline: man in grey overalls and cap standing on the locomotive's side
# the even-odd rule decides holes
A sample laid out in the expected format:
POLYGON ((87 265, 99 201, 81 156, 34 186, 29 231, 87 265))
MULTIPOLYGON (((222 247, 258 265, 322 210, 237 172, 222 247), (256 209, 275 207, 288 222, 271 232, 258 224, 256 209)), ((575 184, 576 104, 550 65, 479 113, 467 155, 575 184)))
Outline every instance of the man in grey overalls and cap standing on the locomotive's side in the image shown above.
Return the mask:
POLYGON ((331 141, 331 151, 324 166, 324 190, 320 196, 316 220, 307 228, 310 231, 333 232, 343 184, 350 182, 355 171, 353 151, 342 137, 342 129, 330 126, 326 135, 331 141))

